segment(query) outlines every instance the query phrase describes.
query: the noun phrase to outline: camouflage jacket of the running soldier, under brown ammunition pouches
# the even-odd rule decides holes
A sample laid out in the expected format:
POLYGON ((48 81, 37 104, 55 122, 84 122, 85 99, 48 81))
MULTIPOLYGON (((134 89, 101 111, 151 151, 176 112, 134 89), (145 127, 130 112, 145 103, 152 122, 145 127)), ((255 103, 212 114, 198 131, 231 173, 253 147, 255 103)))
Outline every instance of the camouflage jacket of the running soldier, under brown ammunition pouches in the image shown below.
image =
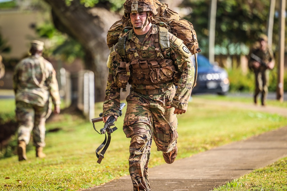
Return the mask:
MULTIPOLYGON (((141 43, 136 37, 133 29, 127 34, 127 40, 125 42, 125 58, 123 54, 119 54, 119 42, 110 48, 110 56, 107 62, 109 68, 108 80, 106 85, 106 94, 103 104, 103 116, 117 115, 118 108, 120 105, 120 87, 117 85, 116 71, 123 62, 133 62, 134 60, 157 60, 159 57, 164 59, 170 59, 176 68, 176 72, 179 76, 171 79, 170 81, 164 83, 155 83, 154 88, 163 88, 172 83, 177 85, 176 94, 172 100, 172 107, 178 109, 187 109, 187 104, 192 90, 192 85, 194 82, 194 66, 191 63, 189 57, 191 53, 187 47, 183 44, 183 41, 174 36, 173 34, 167 32, 165 28, 158 27, 157 25, 152 25, 152 28, 147 33, 146 38, 143 43, 141 43), (161 35, 160 32, 166 32, 167 35, 161 35), (166 40, 161 40, 160 42, 160 54, 157 50, 155 43, 159 42, 159 39, 164 38, 166 40)), ((137 69, 139 70, 139 69, 137 69)), ((126 71, 126 70, 125 70, 126 71)), ((131 71, 131 76, 133 72, 131 71)), ((131 82, 131 80, 129 80, 131 82)), ((137 89, 145 89, 147 85, 143 83, 134 84, 131 83, 132 87, 137 89)), ((148 88, 152 89, 152 88, 148 88)))

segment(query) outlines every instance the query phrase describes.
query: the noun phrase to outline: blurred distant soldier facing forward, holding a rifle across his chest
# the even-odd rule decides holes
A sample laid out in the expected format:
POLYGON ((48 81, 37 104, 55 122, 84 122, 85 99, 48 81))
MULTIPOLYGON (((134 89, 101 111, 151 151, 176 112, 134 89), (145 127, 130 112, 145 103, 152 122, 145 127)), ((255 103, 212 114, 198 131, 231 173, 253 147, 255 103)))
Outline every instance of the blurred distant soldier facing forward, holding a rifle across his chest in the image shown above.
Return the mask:
POLYGON ((248 55, 248 65, 255 73, 255 93, 254 103, 257 104, 257 96, 261 92, 261 105, 266 105, 268 94, 269 70, 275 65, 274 54, 268 47, 267 36, 260 35, 257 45, 255 45, 248 55))

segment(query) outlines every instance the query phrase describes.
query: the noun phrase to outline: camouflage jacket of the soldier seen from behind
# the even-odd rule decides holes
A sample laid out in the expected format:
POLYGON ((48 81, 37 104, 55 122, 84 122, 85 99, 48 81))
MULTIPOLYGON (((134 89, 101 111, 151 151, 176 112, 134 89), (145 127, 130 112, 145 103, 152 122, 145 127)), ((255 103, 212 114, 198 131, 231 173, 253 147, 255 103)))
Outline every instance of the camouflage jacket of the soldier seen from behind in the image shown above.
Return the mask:
POLYGON ((42 107, 51 96, 54 105, 61 104, 55 69, 42 56, 29 56, 15 66, 13 89, 16 102, 42 107))

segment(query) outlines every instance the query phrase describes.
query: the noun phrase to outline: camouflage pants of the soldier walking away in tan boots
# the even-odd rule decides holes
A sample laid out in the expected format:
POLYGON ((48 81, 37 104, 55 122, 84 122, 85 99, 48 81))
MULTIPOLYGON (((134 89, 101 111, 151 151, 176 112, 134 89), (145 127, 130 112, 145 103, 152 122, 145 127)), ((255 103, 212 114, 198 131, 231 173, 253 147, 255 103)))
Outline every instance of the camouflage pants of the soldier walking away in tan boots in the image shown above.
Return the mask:
POLYGON ((29 143, 33 131, 33 144, 44 147, 46 119, 51 114, 49 103, 40 107, 25 102, 16 102, 16 118, 18 122, 18 140, 29 143))

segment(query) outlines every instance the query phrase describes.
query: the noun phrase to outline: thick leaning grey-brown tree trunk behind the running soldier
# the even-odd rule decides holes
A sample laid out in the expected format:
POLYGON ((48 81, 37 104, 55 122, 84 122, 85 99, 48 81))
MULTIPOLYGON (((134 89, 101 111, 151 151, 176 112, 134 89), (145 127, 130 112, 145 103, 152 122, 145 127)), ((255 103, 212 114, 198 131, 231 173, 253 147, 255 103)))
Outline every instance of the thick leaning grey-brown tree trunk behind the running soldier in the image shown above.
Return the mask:
POLYGON ((95 74, 95 101, 103 101, 108 73, 106 60, 109 54, 106 35, 109 27, 121 17, 102 7, 86 8, 79 1, 71 1, 70 6, 63 0, 44 1, 52 7, 55 27, 84 47, 85 68, 95 74))

